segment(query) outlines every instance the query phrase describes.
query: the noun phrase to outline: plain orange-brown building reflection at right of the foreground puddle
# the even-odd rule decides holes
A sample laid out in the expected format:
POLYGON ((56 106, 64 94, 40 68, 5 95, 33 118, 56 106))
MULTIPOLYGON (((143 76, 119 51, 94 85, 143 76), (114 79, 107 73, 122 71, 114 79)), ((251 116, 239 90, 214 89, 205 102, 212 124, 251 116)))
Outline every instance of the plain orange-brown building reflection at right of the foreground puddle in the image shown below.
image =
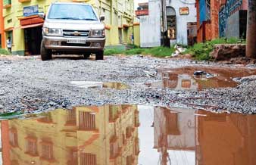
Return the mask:
POLYGON ((198 111, 196 164, 254 165, 256 116, 198 111))

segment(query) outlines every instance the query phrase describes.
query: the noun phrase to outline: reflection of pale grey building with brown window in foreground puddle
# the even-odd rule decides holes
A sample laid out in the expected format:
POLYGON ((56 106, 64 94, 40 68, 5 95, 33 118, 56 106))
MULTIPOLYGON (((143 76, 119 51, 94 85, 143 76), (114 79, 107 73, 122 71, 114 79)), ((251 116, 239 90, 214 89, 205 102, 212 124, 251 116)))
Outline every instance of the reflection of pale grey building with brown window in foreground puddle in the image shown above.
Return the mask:
POLYGON ((195 151, 194 111, 155 107, 154 136, 154 148, 162 155, 161 165, 170 161, 168 150, 195 151))

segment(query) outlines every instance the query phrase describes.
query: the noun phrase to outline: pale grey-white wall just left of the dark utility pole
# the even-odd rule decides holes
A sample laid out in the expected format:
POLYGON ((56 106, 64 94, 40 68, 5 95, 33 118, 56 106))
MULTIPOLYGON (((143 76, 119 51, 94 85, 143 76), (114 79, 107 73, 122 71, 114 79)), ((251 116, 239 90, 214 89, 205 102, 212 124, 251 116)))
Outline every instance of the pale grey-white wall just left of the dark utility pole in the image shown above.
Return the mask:
POLYGON ((142 48, 161 45, 160 2, 148 1, 148 16, 139 17, 140 20, 140 46, 142 48))

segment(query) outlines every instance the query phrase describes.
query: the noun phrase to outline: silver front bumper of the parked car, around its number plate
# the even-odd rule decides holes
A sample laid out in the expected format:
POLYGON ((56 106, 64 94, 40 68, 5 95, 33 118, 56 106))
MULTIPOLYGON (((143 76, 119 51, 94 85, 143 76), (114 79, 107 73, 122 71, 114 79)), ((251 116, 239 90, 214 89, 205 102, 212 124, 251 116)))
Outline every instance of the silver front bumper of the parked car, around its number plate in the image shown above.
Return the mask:
POLYGON ((45 48, 55 51, 99 51, 105 46, 105 38, 86 38, 86 43, 67 43, 67 40, 83 39, 78 37, 43 36, 45 48))

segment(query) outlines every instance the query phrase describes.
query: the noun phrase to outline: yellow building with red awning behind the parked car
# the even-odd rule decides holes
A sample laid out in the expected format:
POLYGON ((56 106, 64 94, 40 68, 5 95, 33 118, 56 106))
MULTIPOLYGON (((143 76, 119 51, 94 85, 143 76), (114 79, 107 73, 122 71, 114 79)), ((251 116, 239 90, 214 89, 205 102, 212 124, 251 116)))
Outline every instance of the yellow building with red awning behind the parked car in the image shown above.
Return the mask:
MULTIPOLYGON (((38 15, 24 17, 23 8, 35 7, 36 11, 46 13, 52 0, 0 0, 3 3, 4 31, 2 41, 10 36, 12 54, 39 54, 42 40, 43 20, 38 15)), ((72 2, 61 0, 60 2, 72 2)), ((133 0, 73 0, 91 4, 98 15, 105 15, 106 46, 139 45, 139 23, 134 23, 133 0)))

